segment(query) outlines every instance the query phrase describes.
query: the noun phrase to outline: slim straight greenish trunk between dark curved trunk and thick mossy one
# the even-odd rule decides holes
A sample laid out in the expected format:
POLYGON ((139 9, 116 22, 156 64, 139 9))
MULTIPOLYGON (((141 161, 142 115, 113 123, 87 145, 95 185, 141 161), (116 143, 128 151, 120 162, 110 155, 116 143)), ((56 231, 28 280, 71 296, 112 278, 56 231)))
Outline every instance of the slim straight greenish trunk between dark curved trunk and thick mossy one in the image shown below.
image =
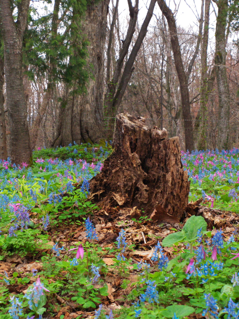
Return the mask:
POLYGON ((208 46, 208 32, 209 32, 209 11, 210 0, 205 0, 205 15, 204 15, 204 31, 201 42, 201 94, 200 94, 200 127, 198 149, 206 150, 206 113, 207 113, 207 46, 208 46))

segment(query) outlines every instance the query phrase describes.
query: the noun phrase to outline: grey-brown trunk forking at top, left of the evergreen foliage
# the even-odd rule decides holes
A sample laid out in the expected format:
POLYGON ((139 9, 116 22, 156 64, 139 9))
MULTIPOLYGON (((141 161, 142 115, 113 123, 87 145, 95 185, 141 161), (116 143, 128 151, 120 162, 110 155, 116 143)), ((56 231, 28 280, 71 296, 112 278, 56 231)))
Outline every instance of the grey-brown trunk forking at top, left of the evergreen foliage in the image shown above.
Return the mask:
POLYGON ((14 21, 11 1, 0 1, 1 33, 4 40, 4 69, 7 110, 10 123, 11 159, 16 164, 29 163, 32 152, 27 123, 22 74, 22 41, 30 0, 18 2, 18 18, 14 21))

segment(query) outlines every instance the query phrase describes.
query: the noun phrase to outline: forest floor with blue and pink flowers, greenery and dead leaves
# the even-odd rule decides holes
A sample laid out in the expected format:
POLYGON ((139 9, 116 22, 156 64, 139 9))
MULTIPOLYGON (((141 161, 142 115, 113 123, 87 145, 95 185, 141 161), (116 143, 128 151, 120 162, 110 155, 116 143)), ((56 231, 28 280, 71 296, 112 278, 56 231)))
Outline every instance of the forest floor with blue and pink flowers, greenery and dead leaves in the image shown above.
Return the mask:
POLYGON ((182 153, 191 203, 180 224, 153 222, 136 208, 102 211, 87 199, 110 152, 107 144, 70 145, 35 152, 31 168, 1 163, 1 319, 238 311, 239 150, 182 153))

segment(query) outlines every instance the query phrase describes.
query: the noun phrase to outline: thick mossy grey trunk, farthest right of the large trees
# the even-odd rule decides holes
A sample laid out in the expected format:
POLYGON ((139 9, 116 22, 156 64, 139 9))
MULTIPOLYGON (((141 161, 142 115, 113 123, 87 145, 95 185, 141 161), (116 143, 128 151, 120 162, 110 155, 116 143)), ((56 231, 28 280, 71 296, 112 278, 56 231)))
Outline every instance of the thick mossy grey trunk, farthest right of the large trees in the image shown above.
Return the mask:
POLYGON ((217 90, 218 90, 218 134, 217 147, 222 149, 230 148, 230 93, 226 71, 226 31, 228 16, 228 0, 214 1, 218 7, 216 32, 215 32, 215 60, 217 90))

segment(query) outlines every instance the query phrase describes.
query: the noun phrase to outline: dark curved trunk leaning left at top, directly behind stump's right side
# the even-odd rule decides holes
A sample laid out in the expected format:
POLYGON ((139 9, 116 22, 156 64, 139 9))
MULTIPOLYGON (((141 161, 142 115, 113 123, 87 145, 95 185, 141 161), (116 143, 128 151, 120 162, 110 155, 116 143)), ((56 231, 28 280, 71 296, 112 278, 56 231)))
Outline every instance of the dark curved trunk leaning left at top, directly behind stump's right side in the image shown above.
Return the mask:
POLYGON ((190 110, 188 81, 187 81, 187 75, 184 70, 180 46, 178 42, 176 22, 175 22, 175 18, 173 16, 172 11, 167 6, 165 1, 157 0, 157 2, 160 7, 160 10, 163 12, 163 15, 168 21, 170 40, 171 40, 173 56, 174 56, 174 63, 177 70, 177 76, 178 76, 180 92, 181 92, 181 102, 182 102, 184 130, 185 130, 185 147, 186 147, 186 150, 189 150, 189 152, 191 152, 193 150, 193 125, 192 125, 192 116, 191 116, 191 110, 190 110))

